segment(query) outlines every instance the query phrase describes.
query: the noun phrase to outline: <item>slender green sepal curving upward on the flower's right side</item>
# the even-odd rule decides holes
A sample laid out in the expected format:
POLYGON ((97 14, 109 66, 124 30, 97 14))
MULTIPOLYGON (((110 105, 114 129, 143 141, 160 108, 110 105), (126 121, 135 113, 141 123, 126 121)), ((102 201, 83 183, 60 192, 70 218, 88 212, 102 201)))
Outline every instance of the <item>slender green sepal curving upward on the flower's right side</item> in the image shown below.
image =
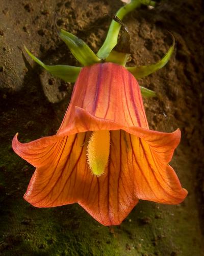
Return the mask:
POLYGON ((172 46, 169 48, 168 52, 164 55, 164 57, 157 63, 148 65, 148 66, 126 67, 126 69, 129 72, 131 72, 135 76, 135 78, 142 78, 150 75, 151 73, 158 71, 159 69, 163 68, 166 65, 166 63, 169 61, 174 50, 174 45, 175 45, 175 39, 173 37, 172 46))

